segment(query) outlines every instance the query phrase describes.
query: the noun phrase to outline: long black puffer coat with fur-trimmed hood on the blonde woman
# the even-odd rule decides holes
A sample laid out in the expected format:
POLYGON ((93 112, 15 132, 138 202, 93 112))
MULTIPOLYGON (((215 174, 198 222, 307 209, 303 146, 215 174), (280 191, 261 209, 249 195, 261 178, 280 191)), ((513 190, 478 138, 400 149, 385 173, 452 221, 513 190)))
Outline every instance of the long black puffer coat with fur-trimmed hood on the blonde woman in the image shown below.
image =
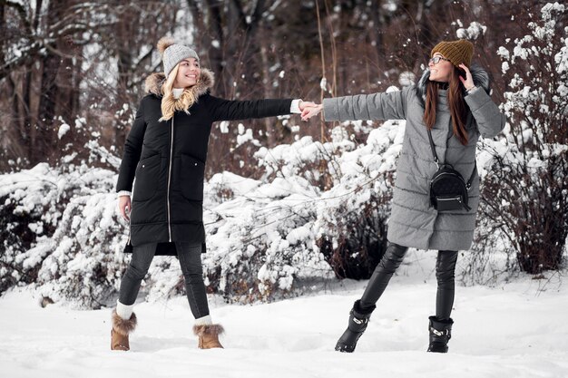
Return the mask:
POLYGON ((199 96, 188 112, 162 117, 163 73, 146 80, 146 95, 138 108, 116 190, 132 191, 132 246, 160 243, 157 255, 174 255, 173 242, 202 243, 203 177, 214 121, 232 121, 289 114, 292 100, 228 101, 211 96, 213 74, 201 70, 191 87, 199 96))

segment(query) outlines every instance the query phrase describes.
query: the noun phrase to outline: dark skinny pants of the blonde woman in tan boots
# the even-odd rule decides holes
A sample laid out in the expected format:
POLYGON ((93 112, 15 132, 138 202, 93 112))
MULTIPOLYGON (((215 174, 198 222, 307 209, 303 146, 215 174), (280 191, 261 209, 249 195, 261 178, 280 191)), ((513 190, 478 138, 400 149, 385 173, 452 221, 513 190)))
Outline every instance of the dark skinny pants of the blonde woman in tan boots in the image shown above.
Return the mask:
MULTIPOLYGON (((133 305, 138 296, 142 279, 148 273, 152 258, 156 252, 156 243, 134 247, 132 260, 122 276, 119 301, 122 305, 133 305)), ((185 294, 190 303, 191 313, 197 319, 209 315, 207 294, 203 283, 203 267, 201 267, 201 244, 176 243, 180 259, 181 272, 185 279, 185 294)))

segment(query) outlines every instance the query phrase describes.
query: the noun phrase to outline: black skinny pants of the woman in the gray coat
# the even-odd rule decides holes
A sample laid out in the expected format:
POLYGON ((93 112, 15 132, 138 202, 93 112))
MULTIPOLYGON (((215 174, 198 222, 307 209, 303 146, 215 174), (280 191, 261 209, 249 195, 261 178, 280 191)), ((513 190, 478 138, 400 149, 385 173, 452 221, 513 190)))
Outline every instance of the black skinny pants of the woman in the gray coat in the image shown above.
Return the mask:
MULTIPOLYGON (((388 243, 385 255, 379 261, 373 275, 369 279, 367 288, 361 296, 360 305, 363 309, 371 308, 377 303, 387 288, 390 277, 397 267, 400 267, 408 247, 388 243)), ((455 261, 457 251, 438 251, 436 260, 436 279, 438 289, 436 293, 436 317, 439 320, 450 318, 455 296, 455 261)))

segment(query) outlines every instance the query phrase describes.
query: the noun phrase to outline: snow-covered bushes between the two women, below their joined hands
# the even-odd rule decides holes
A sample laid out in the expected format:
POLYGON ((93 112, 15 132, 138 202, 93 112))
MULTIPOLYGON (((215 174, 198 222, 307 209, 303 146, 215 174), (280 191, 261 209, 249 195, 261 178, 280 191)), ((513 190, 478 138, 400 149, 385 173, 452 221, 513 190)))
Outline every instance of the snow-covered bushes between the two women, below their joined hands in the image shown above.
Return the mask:
POLYGON ((326 143, 304 137, 261 148, 260 180, 228 172, 211 178, 205 201, 211 253, 204 259, 211 287, 250 302, 305 292, 314 279, 370 275, 384 249, 404 127, 387 122, 357 147, 351 126, 333 129, 326 143), (325 190, 328 179, 332 188, 325 190))

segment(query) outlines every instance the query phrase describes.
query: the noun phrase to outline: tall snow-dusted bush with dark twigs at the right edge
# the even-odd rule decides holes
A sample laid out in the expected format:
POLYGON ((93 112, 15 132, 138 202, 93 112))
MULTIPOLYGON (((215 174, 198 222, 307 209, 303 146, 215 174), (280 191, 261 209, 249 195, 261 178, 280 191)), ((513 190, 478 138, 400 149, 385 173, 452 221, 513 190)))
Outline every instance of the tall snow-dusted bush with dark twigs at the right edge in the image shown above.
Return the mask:
POLYGON ((568 236, 567 15, 565 5, 546 4, 523 37, 499 48, 508 126, 480 154, 478 248, 490 252, 504 238, 531 274, 560 267, 568 236))

